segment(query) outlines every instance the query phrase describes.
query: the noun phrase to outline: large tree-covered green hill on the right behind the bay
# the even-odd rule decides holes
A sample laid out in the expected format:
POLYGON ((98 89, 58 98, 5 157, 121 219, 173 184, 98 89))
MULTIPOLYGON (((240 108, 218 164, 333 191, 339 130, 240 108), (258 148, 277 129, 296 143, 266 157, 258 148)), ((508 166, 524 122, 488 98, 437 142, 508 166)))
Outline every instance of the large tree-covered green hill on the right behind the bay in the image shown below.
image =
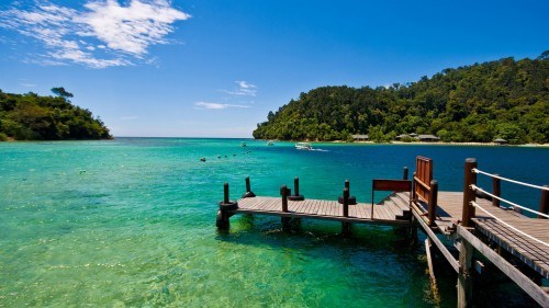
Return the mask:
POLYGON ((401 134, 432 134, 448 142, 549 141, 549 50, 536 59, 444 69, 432 78, 391 87, 321 87, 301 93, 254 138, 347 140, 368 134, 391 141, 401 134))

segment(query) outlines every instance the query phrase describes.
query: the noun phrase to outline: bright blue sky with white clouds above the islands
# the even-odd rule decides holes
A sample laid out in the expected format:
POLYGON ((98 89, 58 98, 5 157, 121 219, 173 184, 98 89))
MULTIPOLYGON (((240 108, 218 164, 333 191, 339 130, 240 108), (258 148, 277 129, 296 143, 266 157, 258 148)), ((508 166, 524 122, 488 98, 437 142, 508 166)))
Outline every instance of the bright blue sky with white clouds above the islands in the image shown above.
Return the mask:
POLYGON ((0 89, 52 94, 114 136, 251 137, 322 85, 536 58, 549 1, 2 0, 0 89))

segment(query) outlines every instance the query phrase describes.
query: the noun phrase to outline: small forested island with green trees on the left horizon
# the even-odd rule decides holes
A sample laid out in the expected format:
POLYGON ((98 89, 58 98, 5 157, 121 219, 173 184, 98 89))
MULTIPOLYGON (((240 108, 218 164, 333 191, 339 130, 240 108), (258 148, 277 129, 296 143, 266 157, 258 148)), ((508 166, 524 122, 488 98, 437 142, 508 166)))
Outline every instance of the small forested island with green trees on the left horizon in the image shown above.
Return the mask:
POLYGON ((71 104, 72 93, 53 88, 55 96, 11 94, 0 90, 0 140, 111 139, 109 128, 89 110, 71 104))

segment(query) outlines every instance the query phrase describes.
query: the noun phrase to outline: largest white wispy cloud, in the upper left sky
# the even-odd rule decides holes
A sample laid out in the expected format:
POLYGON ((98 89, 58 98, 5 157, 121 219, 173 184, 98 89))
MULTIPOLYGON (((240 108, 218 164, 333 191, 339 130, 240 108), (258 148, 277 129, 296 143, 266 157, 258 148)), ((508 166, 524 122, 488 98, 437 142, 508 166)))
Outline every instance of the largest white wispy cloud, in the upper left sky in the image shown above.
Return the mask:
POLYGON ((191 16, 167 0, 91 0, 80 10, 35 1, 27 10, 0 11, 0 27, 44 44, 32 60, 42 65, 75 62, 92 68, 152 62, 148 47, 168 44, 173 23, 191 16))

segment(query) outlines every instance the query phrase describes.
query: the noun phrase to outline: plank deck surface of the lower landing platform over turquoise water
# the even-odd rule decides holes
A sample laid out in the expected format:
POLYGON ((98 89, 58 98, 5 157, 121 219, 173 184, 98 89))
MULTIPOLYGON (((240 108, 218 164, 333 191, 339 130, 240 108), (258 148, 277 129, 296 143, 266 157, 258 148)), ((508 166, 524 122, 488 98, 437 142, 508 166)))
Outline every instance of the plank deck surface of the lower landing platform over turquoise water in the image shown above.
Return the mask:
POLYGON ((288 212, 282 212, 281 197, 250 197, 238 201, 238 209, 229 210, 233 214, 259 214, 271 216, 283 216, 294 218, 328 219, 358 224, 382 224, 382 225, 410 225, 408 220, 396 219, 406 209, 400 204, 382 204, 373 206, 373 218, 371 217, 372 205, 357 203, 349 205, 349 216, 343 216, 343 205, 337 201, 304 199, 288 201, 288 212))

